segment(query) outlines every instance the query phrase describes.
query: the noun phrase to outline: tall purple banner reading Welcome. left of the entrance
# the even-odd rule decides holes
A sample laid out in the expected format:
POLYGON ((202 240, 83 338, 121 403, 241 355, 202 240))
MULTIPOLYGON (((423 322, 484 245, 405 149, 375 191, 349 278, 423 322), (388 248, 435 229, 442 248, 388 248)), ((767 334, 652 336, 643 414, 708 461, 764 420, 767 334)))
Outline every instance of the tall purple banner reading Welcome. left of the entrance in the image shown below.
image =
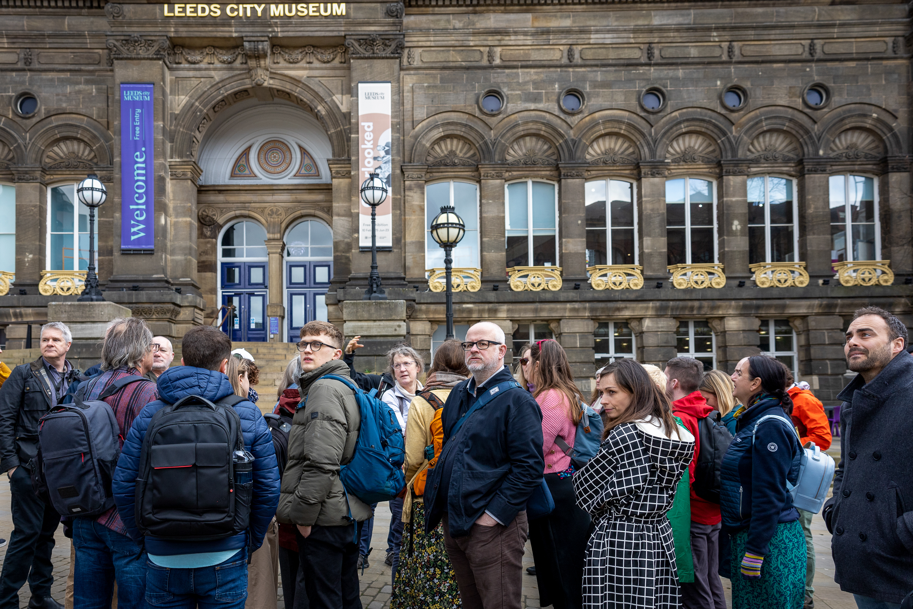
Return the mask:
POLYGON ((154 249, 152 85, 121 83, 121 248, 154 249))

